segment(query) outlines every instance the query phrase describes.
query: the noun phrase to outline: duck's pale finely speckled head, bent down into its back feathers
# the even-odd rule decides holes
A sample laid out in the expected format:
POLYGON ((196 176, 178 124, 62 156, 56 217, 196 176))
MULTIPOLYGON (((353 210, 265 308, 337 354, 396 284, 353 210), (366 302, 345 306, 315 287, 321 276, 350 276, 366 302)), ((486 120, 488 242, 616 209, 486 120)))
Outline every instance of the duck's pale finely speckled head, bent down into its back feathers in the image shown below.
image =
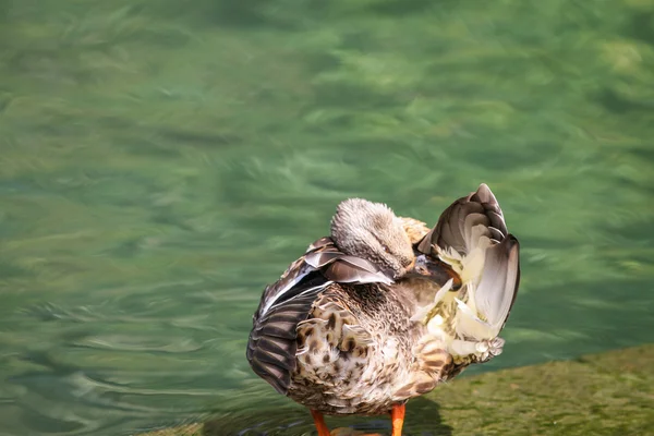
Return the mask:
POLYGON ((331 239, 344 254, 372 262, 393 280, 403 277, 415 262, 402 221, 382 203, 341 202, 331 219, 331 239))

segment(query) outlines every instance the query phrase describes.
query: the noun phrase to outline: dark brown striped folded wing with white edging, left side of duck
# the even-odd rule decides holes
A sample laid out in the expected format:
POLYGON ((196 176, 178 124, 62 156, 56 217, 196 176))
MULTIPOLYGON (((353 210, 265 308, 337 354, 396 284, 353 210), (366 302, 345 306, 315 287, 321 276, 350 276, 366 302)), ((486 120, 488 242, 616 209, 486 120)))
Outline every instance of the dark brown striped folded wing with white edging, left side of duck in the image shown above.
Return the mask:
POLYGON ((330 238, 311 244, 264 290, 247 341, 246 356, 253 371, 286 395, 296 364, 296 327, 308 317, 318 295, 334 283, 372 282, 390 280, 374 264, 341 253, 330 238))

